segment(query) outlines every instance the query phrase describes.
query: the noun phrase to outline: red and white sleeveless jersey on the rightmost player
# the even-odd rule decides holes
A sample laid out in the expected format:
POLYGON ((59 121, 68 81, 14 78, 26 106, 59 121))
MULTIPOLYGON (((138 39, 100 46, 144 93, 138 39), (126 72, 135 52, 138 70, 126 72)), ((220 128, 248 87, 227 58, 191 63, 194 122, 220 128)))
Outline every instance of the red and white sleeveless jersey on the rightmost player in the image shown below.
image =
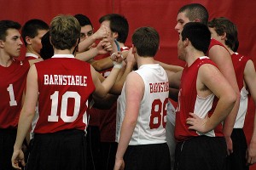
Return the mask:
POLYGON ((247 97, 247 89, 244 87, 244 69, 247 64, 247 61, 250 59, 247 56, 241 54, 232 54, 232 62, 234 65, 234 69, 236 72, 236 81, 238 84, 238 88, 240 90, 241 98, 239 110, 236 116, 236 122, 234 128, 242 128, 245 121, 245 116, 247 114, 247 105, 248 105, 248 97, 247 97))

